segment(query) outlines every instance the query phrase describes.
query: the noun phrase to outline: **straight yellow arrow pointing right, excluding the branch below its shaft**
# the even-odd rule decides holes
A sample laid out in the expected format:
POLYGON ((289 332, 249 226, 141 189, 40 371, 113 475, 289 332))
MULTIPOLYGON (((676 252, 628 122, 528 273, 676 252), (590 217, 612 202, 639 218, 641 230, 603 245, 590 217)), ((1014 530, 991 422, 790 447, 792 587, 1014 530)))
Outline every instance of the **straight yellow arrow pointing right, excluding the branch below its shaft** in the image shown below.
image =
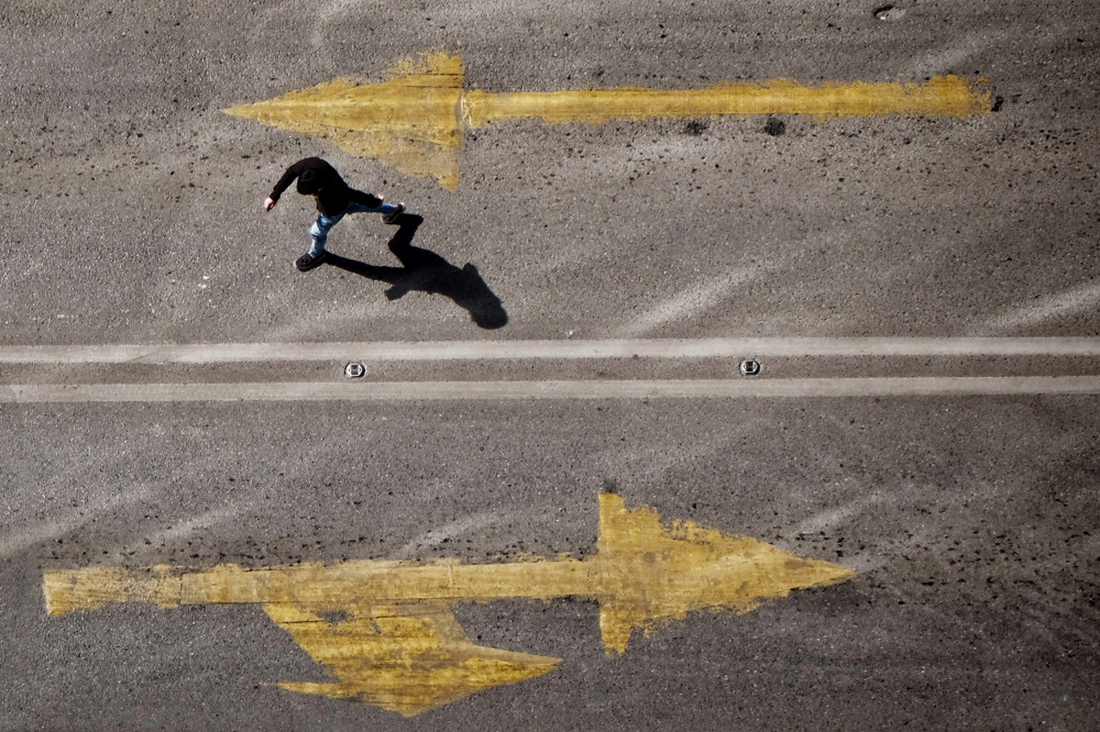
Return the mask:
POLYGON ((855 575, 829 562, 800 557, 691 521, 666 528, 656 511, 627 509, 614 493, 600 495, 597 548, 595 556, 584 561, 563 556, 509 564, 353 559, 260 569, 237 565, 206 570, 168 566, 61 569, 45 573, 43 591, 52 615, 135 601, 165 608, 262 603, 309 612, 359 612, 418 602, 581 596, 600 601, 606 651, 623 653, 635 629, 648 633, 704 608, 744 613, 791 590, 832 585, 855 575))

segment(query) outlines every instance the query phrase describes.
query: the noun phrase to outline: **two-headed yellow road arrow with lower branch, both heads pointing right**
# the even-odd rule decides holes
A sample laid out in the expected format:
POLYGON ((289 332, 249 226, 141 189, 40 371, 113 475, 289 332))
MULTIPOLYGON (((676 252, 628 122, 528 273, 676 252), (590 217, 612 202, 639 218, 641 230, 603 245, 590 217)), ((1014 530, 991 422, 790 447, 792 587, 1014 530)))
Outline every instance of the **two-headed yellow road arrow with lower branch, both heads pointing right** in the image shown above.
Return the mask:
POLYGON ((596 556, 584 561, 563 556, 488 565, 363 559, 263 569, 50 570, 43 592, 52 615, 111 602, 262 605, 339 679, 279 686, 358 698, 413 716, 539 676, 560 661, 474 645, 451 614, 459 601, 595 598, 609 654, 625 652, 635 629, 648 635, 704 608, 744 613, 793 589, 832 585, 855 574, 690 521, 667 529, 656 512, 627 510, 612 493, 600 497, 597 547, 596 556))

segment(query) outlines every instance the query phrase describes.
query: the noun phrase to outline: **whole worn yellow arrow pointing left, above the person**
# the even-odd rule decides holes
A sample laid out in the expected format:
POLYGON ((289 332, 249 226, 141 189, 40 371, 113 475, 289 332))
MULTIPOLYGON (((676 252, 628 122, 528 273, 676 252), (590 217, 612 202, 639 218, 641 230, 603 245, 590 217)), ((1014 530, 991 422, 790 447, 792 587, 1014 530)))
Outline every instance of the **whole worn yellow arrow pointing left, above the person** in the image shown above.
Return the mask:
POLYGON ((827 82, 787 79, 721 84, 706 89, 587 89, 490 93, 463 89, 462 60, 437 52, 406 59, 389 80, 360 85, 336 79, 283 97, 224 110, 282 130, 332 141, 359 157, 378 159, 414 177, 459 185, 466 127, 541 119, 551 124, 603 124, 613 119, 698 118, 723 114, 810 114, 966 118, 988 114, 985 79, 937 76, 925 84, 827 82))

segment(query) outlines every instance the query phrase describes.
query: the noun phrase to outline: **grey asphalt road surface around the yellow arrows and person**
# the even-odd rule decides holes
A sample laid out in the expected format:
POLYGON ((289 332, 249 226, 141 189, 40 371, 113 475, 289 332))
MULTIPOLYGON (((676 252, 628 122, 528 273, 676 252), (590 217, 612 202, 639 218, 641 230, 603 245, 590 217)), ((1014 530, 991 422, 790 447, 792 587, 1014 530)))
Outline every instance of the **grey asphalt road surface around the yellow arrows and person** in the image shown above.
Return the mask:
MULTIPOLYGON (((1069 0, 3 5, 0 729, 1091 729, 1098 21, 1069 0), (222 111, 431 51, 493 93, 957 75, 989 99, 495 122, 464 131, 454 190, 222 111), (314 155, 415 215, 349 217, 299 273, 312 201, 261 203, 314 155), (560 662, 407 718, 280 687, 334 678, 258 600, 47 612, 48 573, 590 559, 602 491, 679 540, 690 521, 855 575, 622 654, 602 595, 453 602, 475 644, 560 662)), ((402 647, 391 670, 419 663, 402 647)))

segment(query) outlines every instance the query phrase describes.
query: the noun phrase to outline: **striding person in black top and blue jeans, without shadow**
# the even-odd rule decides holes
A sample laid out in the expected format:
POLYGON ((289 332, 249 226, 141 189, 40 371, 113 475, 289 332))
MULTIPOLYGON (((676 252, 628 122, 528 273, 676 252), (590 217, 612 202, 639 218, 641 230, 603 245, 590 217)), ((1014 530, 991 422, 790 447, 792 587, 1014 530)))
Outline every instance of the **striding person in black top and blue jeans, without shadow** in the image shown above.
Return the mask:
POLYGON ((275 184, 271 196, 264 200, 264 211, 271 211, 278 203, 279 196, 290 182, 298 179, 298 192, 312 196, 317 200, 317 221, 309 228, 314 243, 309 251, 298 257, 294 266, 299 271, 309 271, 324 262, 324 241, 329 230, 349 213, 381 213, 382 221, 387 224, 397 223, 405 212, 405 204, 384 203, 382 196, 364 193, 351 188, 343 181, 340 174, 331 165, 319 157, 307 157, 298 160, 286 169, 283 177, 275 184))

